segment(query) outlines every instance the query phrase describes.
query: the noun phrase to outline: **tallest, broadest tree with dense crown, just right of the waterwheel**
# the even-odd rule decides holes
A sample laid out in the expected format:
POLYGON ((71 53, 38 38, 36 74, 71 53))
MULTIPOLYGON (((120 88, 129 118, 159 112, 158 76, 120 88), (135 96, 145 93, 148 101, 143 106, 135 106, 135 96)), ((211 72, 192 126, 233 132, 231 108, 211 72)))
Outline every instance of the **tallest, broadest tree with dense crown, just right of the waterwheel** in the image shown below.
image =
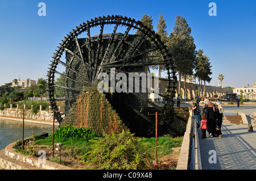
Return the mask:
POLYGON ((179 88, 180 94, 181 75, 184 75, 184 95, 186 95, 187 75, 193 74, 196 60, 196 45, 191 35, 191 28, 188 26, 187 20, 181 16, 176 17, 174 31, 168 37, 168 47, 172 54, 172 58, 179 72, 179 88))

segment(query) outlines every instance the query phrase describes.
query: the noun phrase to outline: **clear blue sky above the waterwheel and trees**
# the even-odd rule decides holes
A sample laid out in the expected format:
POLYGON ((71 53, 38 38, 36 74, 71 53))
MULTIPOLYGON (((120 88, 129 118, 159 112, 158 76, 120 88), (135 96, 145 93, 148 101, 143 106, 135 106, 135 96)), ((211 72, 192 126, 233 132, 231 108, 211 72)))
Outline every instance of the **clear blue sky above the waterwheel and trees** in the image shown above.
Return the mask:
MULTIPOLYGON (((47 78, 53 53, 64 36, 82 22, 97 16, 122 15, 140 20, 152 16, 154 30, 159 15, 173 31, 176 16, 187 19, 196 49, 210 58, 213 74, 209 85, 253 86, 256 82, 256 1, 56 1, 0 0, 0 85, 15 78, 47 78), (39 16, 39 2, 46 16, 39 16), (217 16, 209 16, 210 2, 217 16)), ((208 83, 207 83, 208 85, 208 83)))

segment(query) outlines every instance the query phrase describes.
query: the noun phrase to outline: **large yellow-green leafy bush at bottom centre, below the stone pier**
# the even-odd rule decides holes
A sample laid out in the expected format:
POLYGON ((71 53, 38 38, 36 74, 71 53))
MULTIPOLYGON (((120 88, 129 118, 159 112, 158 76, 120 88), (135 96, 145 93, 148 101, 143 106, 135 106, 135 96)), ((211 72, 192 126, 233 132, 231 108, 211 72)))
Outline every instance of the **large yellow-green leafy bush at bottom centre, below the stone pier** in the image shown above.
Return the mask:
POLYGON ((90 169, 148 169, 148 154, 138 144, 138 138, 129 131, 103 134, 104 137, 93 140, 93 150, 81 157, 81 162, 90 169))

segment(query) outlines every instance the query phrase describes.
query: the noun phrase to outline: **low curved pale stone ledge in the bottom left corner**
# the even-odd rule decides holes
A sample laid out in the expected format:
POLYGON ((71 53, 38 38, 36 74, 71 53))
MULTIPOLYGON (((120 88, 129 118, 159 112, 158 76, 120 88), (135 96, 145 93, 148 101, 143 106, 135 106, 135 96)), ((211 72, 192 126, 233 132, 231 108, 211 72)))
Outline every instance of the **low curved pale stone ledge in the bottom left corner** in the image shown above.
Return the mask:
MULTIPOLYGON (((24 141, 31 137, 26 138, 24 141)), ((23 155, 15 151, 12 142, 0 151, 0 168, 5 170, 75 170, 51 161, 40 163, 38 157, 23 155), (4 155, 3 155, 4 153, 4 155)))

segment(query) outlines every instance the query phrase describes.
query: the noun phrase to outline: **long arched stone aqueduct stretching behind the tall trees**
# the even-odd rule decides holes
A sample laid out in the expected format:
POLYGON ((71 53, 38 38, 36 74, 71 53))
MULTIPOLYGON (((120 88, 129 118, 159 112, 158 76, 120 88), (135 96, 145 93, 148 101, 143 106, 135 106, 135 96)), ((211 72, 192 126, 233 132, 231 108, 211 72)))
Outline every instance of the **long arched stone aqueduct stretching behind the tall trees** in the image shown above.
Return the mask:
MULTIPOLYGON (((177 81, 176 87, 178 87, 179 82, 177 81)), ((166 89, 167 86, 167 81, 161 80, 159 83, 159 89, 160 93, 163 94, 164 90, 166 89)), ((180 89, 182 92, 184 92, 184 82, 181 81, 180 83, 180 89)), ((186 89, 187 89, 187 99, 192 100, 195 99, 196 97, 196 90, 199 89, 199 85, 195 83, 186 83, 186 89)), ((175 98, 177 97, 177 90, 178 88, 175 89, 175 98)), ((207 98, 214 98, 214 95, 217 95, 218 98, 225 98, 226 93, 228 92, 233 92, 233 89, 226 89, 223 87, 217 87, 217 86, 205 86, 205 95, 204 95, 204 85, 203 85, 203 90, 201 89, 200 86, 200 97, 207 96, 207 98)), ((184 94, 181 97, 184 99, 184 94)))

